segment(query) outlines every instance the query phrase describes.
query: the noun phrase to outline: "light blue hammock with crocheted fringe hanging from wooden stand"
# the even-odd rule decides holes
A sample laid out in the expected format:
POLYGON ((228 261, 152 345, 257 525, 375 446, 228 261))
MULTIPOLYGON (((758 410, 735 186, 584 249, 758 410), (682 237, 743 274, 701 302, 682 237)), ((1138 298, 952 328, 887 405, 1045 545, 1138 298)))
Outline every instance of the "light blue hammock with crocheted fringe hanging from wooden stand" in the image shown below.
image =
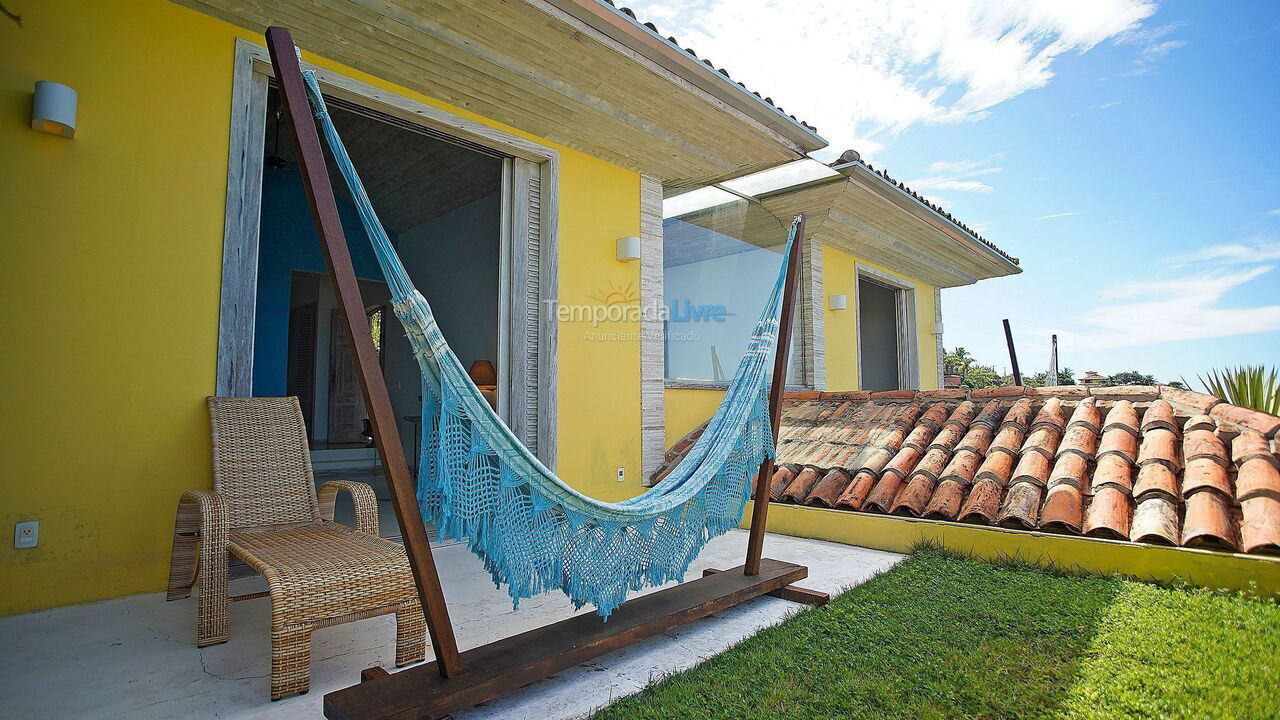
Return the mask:
MULTIPOLYGON (((424 519, 440 537, 466 542, 516 607, 559 588, 576 607, 591 603, 608 619, 628 591, 684 579, 708 541, 737 527, 751 477, 773 456, 765 380, 790 252, 724 401, 684 461, 644 495, 591 500, 529 452, 471 382, 378 220, 315 76, 303 77, 422 372, 424 519)), ((788 251, 795 233, 792 223, 788 251)))

